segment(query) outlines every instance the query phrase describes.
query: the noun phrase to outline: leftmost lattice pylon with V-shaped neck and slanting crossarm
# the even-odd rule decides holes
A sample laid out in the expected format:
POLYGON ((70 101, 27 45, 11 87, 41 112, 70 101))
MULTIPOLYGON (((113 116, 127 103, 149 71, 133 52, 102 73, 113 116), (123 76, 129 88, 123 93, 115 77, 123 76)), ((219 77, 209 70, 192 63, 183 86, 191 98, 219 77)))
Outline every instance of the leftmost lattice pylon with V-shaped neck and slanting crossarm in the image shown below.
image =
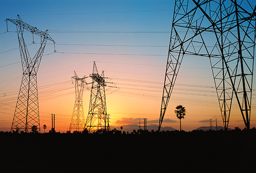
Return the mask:
POLYGON ((20 57, 23 69, 23 76, 20 85, 20 92, 15 108, 13 123, 11 130, 31 132, 32 127, 40 133, 39 123, 39 107, 37 94, 37 78, 36 74, 40 65, 40 61, 46 46, 47 40, 54 40, 45 32, 40 31, 36 27, 32 27, 20 19, 7 19, 17 26, 18 40, 20 46, 20 57), (24 29, 41 37, 40 48, 33 58, 30 57, 27 45, 23 38, 24 29), (36 128, 35 128, 36 127, 36 128))

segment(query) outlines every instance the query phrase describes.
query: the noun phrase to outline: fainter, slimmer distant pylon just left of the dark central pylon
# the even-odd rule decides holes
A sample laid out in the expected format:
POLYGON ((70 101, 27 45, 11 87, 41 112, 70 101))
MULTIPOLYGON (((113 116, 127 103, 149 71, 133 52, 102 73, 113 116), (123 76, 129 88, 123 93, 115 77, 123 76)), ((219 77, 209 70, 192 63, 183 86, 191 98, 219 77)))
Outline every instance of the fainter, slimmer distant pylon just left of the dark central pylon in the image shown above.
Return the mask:
POLYGON ((69 131, 72 129, 75 131, 80 131, 84 129, 84 109, 83 109, 83 90, 84 85, 87 84, 85 79, 87 77, 79 78, 78 75, 74 71, 74 76, 72 77, 75 80, 75 101, 74 101, 74 109, 72 114, 72 119, 69 127, 69 131))

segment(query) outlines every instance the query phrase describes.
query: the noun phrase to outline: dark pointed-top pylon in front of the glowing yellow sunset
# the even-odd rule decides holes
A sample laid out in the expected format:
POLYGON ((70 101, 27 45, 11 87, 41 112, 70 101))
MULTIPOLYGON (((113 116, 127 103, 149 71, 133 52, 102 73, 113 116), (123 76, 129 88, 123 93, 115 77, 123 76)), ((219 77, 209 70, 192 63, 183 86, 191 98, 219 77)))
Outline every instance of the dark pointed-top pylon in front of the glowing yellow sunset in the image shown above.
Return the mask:
POLYGON ((104 77, 104 71, 101 75, 98 73, 95 62, 93 73, 90 74, 90 77, 92 78, 92 90, 85 129, 88 132, 95 132, 97 130, 109 131, 109 114, 107 114, 105 96, 106 78, 104 77))

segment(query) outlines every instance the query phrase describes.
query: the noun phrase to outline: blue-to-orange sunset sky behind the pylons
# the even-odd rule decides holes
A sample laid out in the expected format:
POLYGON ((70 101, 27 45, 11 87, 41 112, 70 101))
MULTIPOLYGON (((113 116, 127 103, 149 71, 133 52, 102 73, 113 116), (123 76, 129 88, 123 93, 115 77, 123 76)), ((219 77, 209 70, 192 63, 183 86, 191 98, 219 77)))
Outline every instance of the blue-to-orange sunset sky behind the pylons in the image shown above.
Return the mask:
MULTIPOLYGON (((79 77, 99 73, 108 77, 107 112, 111 126, 157 124, 160 117, 165 67, 174 13, 174 0, 0 0, 0 131, 10 131, 17 102, 22 67, 16 26, 6 19, 21 19, 56 42, 47 41, 37 74, 40 127, 69 130, 74 108, 74 71, 79 77), (8 26, 8 33, 7 31, 8 26)), ((40 37, 25 32, 31 56, 40 37)), ((90 79, 87 78, 88 83, 90 79)), ((255 83, 255 80, 253 80, 255 83)), ((88 86, 90 87, 90 86, 88 86)), ((253 87, 254 89, 255 87, 253 87)), ((90 90, 84 90, 87 117, 90 90)), ((223 126, 208 58, 185 56, 162 126, 179 129, 175 107, 185 106, 182 129, 223 126)), ((251 127, 256 126, 255 94, 251 127)), ((238 106, 233 104, 229 128, 244 128, 238 106)), ((125 130, 125 129, 124 129, 125 130)), ((43 129, 41 129, 41 132, 43 129)))

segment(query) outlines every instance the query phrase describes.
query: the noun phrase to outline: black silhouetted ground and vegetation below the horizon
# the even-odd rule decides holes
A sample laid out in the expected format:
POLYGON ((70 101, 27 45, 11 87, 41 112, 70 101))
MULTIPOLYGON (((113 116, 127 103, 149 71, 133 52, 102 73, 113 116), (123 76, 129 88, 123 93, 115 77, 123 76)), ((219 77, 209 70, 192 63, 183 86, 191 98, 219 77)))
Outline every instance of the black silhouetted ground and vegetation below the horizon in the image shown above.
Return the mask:
POLYGON ((138 129, 131 133, 121 129, 101 133, 0 132, 1 171, 77 172, 86 167, 87 172, 95 172, 95 168, 98 172, 106 168, 123 172, 248 172, 254 168, 255 160, 237 158, 256 155, 255 136, 255 128, 192 132, 138 129), (31 159, 36 155, 39 157, 31 159), (101 160, 102 155, 107 159, 101 160), (10 161, 13 156, 22 159, 10 161), (181 160, 184 166, 180 166, 181 160), (215 169, 209 170, 211 167, 215 169))

